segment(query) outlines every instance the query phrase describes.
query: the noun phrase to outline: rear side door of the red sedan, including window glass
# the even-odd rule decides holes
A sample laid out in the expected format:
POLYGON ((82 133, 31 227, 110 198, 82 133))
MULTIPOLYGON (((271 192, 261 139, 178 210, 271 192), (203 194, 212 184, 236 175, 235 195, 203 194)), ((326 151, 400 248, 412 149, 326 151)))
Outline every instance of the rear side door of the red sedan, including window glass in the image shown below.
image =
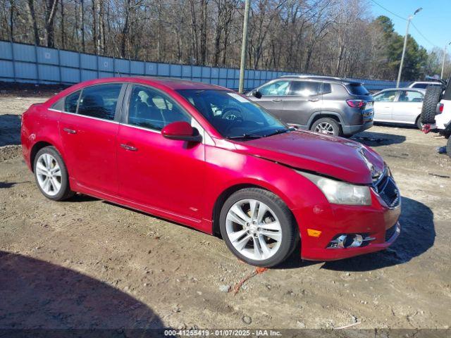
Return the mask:
POLYGON ((96 84, 66 96, 60 120, 70 177, 107 194, 118 191, 116 135, 123 87, 96 84))

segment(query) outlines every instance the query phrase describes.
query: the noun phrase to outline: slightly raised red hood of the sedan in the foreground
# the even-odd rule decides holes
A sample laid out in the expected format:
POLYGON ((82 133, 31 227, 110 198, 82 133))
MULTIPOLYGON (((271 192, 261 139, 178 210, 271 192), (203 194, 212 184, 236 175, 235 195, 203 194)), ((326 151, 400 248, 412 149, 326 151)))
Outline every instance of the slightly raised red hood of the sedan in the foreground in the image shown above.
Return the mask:
POLYGON ((385 165, 383 158, 368 146, 307 131, 235 142, 235 146, 237 151, 251 156, 356 184, 371 184, 385 165))

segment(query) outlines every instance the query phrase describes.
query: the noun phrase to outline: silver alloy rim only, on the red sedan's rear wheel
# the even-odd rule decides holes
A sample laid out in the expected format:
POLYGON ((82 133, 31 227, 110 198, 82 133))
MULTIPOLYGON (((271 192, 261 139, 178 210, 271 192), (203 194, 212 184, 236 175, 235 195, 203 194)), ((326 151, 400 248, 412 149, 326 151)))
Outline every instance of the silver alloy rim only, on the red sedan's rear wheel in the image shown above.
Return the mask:
POLYGON ((61 190, 61 168, 54 156, 44 153, 36 162, 36 177, 39 187, 49 196, 55 196, 61 190))

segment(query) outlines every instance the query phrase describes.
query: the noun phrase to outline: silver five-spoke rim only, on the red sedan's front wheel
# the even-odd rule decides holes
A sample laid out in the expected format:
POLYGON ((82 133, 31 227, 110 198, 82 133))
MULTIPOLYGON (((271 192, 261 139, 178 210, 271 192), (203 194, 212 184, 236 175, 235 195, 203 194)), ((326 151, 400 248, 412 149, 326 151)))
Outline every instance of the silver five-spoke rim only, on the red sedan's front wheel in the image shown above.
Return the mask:
POLYGON ((274 256, 282 239, 276 213, 256 199, 233 204, 227 213, 226 232, 235 249, 254 261, 274 256))

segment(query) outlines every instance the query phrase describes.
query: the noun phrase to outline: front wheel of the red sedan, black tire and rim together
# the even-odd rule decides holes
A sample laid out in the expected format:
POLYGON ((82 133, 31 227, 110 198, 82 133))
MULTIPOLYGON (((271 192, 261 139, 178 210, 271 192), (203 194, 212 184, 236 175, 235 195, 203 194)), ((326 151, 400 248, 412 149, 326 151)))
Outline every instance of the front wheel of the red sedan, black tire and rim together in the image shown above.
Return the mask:
POLYGON ((223 204, 219 226, 228 249, 250 265, 278 265, 299 241, 290 209, 278 196, 259 188, 232 194, 223 204))

